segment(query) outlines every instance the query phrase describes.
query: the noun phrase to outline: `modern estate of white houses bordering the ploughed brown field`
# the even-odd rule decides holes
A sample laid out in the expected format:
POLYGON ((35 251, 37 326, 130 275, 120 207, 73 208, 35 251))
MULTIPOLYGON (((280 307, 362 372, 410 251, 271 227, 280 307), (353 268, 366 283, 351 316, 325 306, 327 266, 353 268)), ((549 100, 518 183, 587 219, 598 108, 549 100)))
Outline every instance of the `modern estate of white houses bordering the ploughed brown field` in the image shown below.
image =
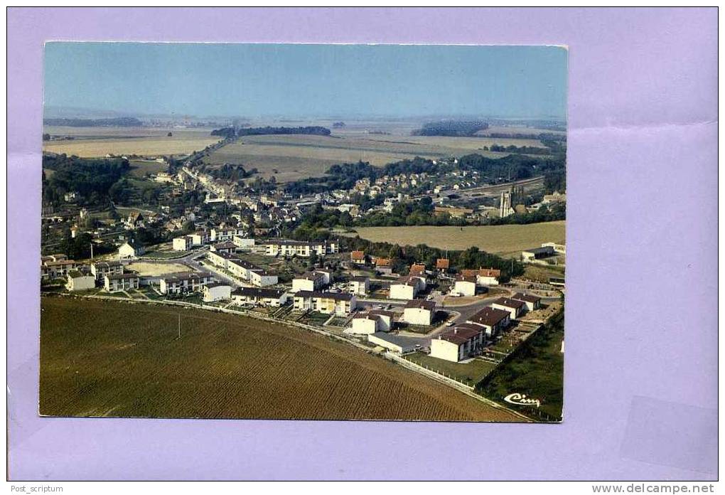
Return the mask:
MULTIPOLYGON (((127 219, 133 221, 143 217, 127 219)), ((563 290, 501 284, 498 269, 459 269, 447 258, 397 274, 392 259, 341 253, 336 240, 255 238, 249 229, 224 224, 176 237, 165 248, 147 252, 129 241, 88 261, 44 255, 41 284, 60 280, 56 289, 69 295, 241 311, 315 327, 465 385, 479 378, 481 365, 492 369, 555 314, 563 290), (278 270, 289 266, 298 273, 283 281, 278 270), (444 362, 459 364, 460 377, 444 362)), ((521 257, 535 263, 564 250, 545 243, 521 257)))

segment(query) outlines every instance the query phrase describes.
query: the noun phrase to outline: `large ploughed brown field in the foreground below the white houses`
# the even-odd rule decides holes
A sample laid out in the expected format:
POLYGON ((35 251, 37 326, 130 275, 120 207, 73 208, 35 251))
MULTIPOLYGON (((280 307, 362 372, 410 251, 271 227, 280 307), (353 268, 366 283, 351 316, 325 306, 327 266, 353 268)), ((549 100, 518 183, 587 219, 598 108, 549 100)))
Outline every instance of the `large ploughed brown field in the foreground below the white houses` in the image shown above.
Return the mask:
POLYGON ((520 420, 304 330, 111 301, 43 298, 41 308, 43 415, 520 420))

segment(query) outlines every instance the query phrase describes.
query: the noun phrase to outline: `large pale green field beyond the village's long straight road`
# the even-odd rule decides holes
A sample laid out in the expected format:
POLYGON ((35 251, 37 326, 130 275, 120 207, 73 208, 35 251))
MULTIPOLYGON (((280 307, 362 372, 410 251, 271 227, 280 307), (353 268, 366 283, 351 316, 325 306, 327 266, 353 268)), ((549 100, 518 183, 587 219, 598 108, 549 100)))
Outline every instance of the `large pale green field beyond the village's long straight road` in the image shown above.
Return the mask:
POLYGON ((542 146, 534 139, 491 139, 487 137, 393 136, 363 133, 336 133, 331 136, 276 135, 244 136, 215 150, 204 161, 210 165, 241 163, 257 168, 260 175, 275 176, 278 182, 322 176, 336 163, 363 160, 386 165, 405 158, 441 158, 479 153, 502 157, 507 153, 487 152, 491 144, 542 146), (275 173, 274 171, 277 171, 275 173))

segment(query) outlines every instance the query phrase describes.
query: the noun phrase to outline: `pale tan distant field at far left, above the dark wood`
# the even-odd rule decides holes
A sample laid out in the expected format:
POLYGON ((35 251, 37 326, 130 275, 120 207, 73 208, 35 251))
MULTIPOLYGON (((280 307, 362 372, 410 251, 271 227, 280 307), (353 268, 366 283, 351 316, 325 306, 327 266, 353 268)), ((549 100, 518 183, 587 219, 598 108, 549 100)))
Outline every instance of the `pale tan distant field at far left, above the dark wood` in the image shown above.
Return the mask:
POLYGON ((112 155, 186 155, 218 142, 206 128, 155 127, 54 127, 43 132, 74 136, 69 141, 43 142, 43 151, 78 155, 83 158, 112 155), (171 132, 173 136, 167 137, 171 132))

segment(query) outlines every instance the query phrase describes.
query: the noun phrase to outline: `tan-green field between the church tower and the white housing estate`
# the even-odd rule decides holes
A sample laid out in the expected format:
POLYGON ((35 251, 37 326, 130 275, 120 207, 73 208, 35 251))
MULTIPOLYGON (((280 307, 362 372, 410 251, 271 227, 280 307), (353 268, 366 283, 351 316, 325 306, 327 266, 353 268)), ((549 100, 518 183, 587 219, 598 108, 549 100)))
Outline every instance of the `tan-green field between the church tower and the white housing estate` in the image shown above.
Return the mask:
MULTIPOLYGON (((528 225, 486 226, 402 226, 357 227, 363 239, 392 242, 399 245, 427 244, 440 249, 463 250, 477 246, 500 255, 518 255, 521 250, 537 247, 542 242, 565 241, 565 221, 528 225)), ((349 234, 349 235, 355 235, 349 234)))

